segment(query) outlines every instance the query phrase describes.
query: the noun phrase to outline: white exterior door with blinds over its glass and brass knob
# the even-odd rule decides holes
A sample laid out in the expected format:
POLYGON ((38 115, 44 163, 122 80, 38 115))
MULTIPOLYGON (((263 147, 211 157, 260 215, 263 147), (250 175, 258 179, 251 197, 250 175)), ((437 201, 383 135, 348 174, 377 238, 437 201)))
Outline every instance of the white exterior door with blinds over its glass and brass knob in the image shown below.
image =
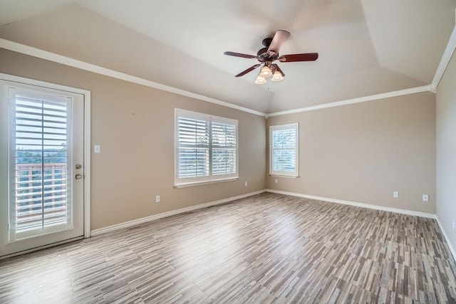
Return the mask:
POLYGON ((83 237, 84 95, 1 86, 0 256, 83 237))

